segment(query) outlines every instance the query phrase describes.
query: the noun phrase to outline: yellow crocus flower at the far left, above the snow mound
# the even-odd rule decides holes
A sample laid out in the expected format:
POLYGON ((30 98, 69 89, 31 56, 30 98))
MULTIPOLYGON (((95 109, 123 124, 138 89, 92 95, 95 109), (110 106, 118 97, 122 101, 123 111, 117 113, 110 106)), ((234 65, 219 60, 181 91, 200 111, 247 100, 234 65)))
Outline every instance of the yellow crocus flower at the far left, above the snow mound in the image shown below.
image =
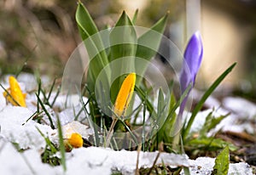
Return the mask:
POLYGON ((3 96, 13 105, 20 105, 22 107, 26 107, 26 93, 22 93, 20 89, 20 85, 15 79, 14 76, 9 76, 9 88, 7 89, 9 94, 7 92, 3 93, 3 96))

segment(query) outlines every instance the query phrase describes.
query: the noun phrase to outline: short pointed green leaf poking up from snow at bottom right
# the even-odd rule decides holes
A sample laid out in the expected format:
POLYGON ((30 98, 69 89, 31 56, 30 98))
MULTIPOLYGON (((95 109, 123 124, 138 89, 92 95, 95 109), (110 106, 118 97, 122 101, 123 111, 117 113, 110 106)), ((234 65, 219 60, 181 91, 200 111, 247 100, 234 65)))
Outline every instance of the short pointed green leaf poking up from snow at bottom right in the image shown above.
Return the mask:
POLYGON ((230 150, 229 146, 225 147, 216 157, 212 174, 227 175, 230 166, 230 150))

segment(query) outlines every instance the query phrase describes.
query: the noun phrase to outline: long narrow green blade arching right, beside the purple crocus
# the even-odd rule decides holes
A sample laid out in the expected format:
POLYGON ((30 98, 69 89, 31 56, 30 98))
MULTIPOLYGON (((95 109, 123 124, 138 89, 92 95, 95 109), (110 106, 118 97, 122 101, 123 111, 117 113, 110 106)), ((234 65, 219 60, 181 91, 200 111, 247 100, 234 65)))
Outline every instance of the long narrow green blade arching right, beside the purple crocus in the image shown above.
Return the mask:
POLYGON ((233 68, 236 66, 236 63, 234 63, 233 65, 230 65, 230 67, 224 71, 224 73, 221 76, 218 76, 218 79, 212 83, 212 86, 210 88, 207 89, 207 92, 204 93, 204 95, 202 96, 202 98, 200 99, 200 101, 198 102, 198 104, 196 104, 195 106, 195 110, 193 110, 191 117, 189 118, 189 122, 187 124, 186 127, 183 127, 183 140, 185 141, 188 134, 189 134, 189 130, 192 126, 192 123, 195 120, 195 116, 196 114, 201 110, 201 107, 203 106, 203 104, 205 103, 205 101, 207 100, 207 98, 212 94, 212 92, 215 90, 215 88, 218 87, 219 83, 222 82, 224 80, 224 78, 230 74, 230 72, 233 70, 233 68))

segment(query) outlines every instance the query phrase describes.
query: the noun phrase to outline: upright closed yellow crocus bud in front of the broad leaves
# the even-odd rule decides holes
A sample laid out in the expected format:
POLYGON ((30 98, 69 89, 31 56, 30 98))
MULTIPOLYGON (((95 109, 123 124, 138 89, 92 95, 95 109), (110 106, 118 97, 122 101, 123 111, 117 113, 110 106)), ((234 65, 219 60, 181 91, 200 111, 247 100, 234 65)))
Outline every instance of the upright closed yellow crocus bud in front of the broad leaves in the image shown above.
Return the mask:
POLYGON ((136 74, 131 73, 128 76, 126 76, 124 82, 122 83, 118 96, 115 99, 115 103, 113 105, 113 112, 117 116, 124 116, 125 110, 127 109, 131 101, 131 96, 134 91, 135 82, 136 74))

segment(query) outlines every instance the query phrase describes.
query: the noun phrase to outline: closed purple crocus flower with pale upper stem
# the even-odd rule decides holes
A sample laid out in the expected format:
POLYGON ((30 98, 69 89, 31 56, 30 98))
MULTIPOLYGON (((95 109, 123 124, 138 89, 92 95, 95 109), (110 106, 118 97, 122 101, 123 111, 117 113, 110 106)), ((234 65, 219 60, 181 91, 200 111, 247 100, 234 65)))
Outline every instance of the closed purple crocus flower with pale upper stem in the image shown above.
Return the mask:
MULTIPOLYGON (((191 89, 195 86, 195 76, 199 71, 201 65, 201 59, 203 55, 203 46, 201 42, 201 34, 199 31, 196 31, 194 35, 190 38, 187 48, 184 53, 183 67, 180 76, 180 86, 181 93, 184 93, 186 88, 191 84, 191 89)), ((182 104, 179 109, 179 116, 182 116, 183 110, 188 100, 189 93, 187 97, 183 99, 182 104)))

